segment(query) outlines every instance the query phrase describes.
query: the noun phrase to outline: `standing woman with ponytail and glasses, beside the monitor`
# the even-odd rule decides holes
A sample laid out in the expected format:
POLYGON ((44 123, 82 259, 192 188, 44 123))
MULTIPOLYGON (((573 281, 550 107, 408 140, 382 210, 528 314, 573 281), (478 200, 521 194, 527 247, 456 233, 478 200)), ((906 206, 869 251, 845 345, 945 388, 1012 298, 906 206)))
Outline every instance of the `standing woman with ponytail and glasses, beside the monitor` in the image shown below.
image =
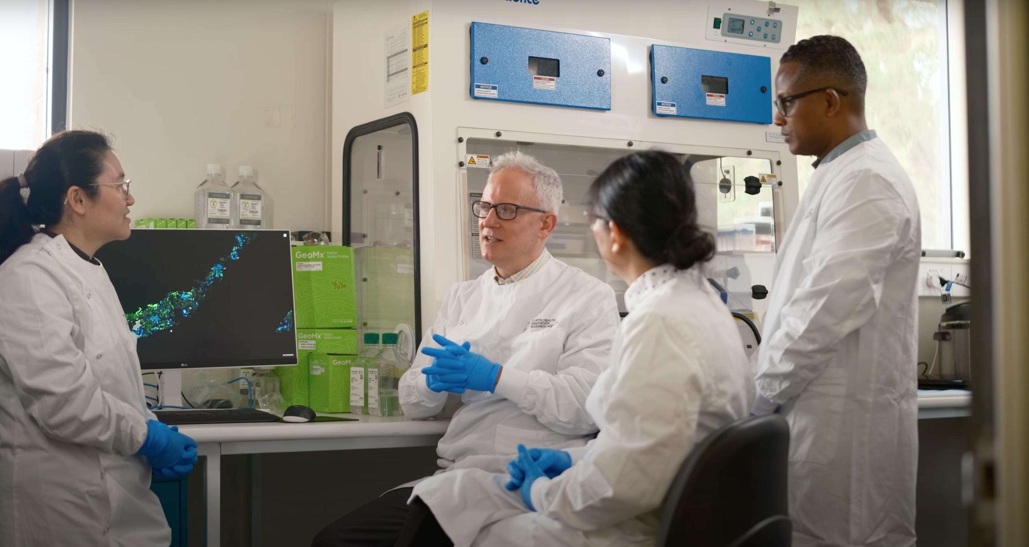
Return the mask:
POLYGON ((151 473, 197 443, 144 403, 136 337, 93 257, 130 234, 108 139, 64 132, 0 181, 0 545, 162 546, 151 473))

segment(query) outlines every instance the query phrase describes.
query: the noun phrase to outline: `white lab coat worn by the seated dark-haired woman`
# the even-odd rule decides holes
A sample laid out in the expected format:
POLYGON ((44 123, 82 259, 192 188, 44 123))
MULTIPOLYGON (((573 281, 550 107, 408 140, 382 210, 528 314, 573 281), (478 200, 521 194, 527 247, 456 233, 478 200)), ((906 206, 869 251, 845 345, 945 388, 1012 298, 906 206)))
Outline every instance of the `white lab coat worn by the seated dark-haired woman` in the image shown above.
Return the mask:
POLYGON ((651 546, 693 446, 745 416, 753 373, 733 317, 694 269, 658 266, 626 292, 629 316, 587 409, 597 438, 533 483, 531 512, 506 474, 466 469, 415 487, 456 547, 651 546))

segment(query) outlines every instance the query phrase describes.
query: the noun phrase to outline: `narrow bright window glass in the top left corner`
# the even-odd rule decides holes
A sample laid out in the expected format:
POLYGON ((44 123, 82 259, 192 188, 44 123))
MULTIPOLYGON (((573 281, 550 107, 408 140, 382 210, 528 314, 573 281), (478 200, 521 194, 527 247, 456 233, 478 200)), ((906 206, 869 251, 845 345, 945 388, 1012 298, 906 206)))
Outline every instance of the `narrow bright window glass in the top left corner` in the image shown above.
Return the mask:
POLYGON ((0 148, 32 150, 46 139, 49 2, 0 2, 0 148))

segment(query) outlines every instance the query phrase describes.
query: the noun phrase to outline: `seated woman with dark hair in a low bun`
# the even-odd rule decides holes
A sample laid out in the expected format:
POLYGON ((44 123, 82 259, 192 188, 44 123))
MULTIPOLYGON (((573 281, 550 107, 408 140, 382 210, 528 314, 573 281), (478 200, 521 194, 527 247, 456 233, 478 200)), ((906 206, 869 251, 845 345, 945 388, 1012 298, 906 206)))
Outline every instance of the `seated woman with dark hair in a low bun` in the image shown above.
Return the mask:
POLYGON ((629 284, 611 366, 586 403, 600 433, 566 450, 519 446, 509 478, 466 469, 422 482, 401 535, 412 545, 448 544, 443 534, 457 546, 653 545, 689 450, 747 415, 753 376, 733 317, 701 271, 714 242, 698 225, 685 168, 666 152, 627 155, 588 200, 600 254, 629 284), (482 495, 491 491, 504 495, 482 495), (465 503, 483 499, 494 503, 465 503), (436 526, 432 510, 445 504, 461 516, 436 526))

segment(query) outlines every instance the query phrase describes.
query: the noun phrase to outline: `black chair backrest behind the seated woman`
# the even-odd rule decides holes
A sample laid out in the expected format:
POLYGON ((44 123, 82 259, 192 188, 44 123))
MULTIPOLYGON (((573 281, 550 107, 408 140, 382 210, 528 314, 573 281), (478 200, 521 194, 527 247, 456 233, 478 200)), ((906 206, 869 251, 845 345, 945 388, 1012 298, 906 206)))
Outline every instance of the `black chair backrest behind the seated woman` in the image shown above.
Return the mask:
POLYGON ((779 414, 730 424, 698 444, 665 500, 658 547, 789 547, 789 426, 779 414))

